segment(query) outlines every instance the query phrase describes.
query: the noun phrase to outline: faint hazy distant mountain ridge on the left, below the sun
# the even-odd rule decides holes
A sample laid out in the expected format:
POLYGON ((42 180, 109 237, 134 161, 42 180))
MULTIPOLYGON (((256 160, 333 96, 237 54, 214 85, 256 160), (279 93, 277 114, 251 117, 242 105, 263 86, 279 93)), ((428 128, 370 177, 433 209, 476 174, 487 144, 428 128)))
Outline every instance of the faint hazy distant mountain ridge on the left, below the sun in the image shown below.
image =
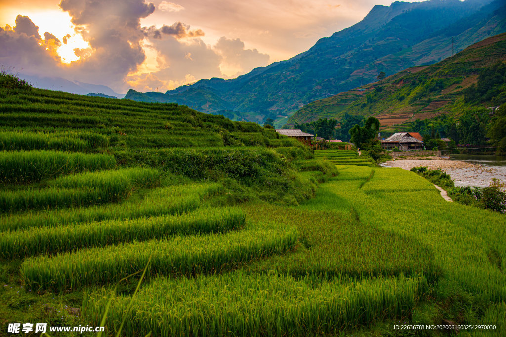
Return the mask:
POLYGON ((122 94, 114 92, 105 85, 83 83, 79 81, 69 81, 61 77, 38 77, 34 75, 18 74, 18 77, 26 80, 33 87, 39 89, 49 89, 57 91, 65 91, 85 95, 89 92, 103 93, 115 98, 123 97, 122 94))

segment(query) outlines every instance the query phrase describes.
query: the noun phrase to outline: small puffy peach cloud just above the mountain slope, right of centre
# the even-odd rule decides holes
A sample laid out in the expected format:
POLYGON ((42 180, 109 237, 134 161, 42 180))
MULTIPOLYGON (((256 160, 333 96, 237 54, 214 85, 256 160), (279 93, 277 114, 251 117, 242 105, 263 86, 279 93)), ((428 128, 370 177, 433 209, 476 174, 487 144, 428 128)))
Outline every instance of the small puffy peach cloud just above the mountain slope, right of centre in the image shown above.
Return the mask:
POLYGON ((222 36, 214 49, 222 57, 220 69, 227 77, 235 77, 269 63, 269 55, 256 49, 245 49, 244 42, 238 38, 227 39, 222 36))

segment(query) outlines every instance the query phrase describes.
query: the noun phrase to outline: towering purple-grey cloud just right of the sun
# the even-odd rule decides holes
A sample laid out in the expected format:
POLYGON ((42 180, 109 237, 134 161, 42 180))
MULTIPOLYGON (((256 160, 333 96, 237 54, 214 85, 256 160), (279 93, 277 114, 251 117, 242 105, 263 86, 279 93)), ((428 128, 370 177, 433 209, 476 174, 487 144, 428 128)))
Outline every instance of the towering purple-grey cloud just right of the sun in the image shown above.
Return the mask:
POLYGON ((81 60, 72 63, 80 81, 117 87, 144 61, 140 19, 154 12, 153 4, 143 0, 62 0, 60 7, 90 44, 91 53, 77 50, 81 60))

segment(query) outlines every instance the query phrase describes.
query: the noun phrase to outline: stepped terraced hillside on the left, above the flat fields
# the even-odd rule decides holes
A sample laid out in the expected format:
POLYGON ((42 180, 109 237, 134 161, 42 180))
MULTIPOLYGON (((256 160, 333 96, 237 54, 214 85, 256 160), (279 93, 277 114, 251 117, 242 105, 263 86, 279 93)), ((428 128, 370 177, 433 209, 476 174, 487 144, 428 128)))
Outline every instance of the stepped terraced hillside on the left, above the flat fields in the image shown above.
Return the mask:
POLYGON ((25 85, 0 98, 0 334, 9 322, 88 324, 69 309, 83 290, 149 259, 156 279, 291 250, 296 229, 246 222, 230 206, 297 205, 336 173, 274 130, 184 106, 25 85))

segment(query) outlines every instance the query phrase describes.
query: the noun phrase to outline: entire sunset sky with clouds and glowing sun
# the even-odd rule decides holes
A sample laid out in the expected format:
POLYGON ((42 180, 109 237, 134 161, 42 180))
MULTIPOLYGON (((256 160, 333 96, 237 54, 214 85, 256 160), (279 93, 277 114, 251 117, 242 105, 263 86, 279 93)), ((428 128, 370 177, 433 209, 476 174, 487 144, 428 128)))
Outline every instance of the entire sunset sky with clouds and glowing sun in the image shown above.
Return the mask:
POLYGON ((0 0, 0 66, 118 93, 235 78, 391 0, 0 0))

